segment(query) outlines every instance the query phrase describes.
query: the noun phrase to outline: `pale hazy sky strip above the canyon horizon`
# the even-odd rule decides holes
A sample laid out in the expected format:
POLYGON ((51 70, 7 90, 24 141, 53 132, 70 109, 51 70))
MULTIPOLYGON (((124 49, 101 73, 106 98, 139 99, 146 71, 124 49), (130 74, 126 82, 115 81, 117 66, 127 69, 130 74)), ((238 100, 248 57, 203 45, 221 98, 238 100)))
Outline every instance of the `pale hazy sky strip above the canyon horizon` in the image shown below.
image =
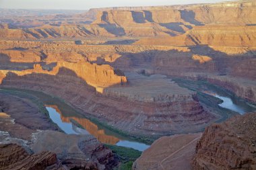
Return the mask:
POLYGON ((0 0, 0 8, 9 9, 90 9, 95 7, 125 7, 216 3, 229 0, 0 0))

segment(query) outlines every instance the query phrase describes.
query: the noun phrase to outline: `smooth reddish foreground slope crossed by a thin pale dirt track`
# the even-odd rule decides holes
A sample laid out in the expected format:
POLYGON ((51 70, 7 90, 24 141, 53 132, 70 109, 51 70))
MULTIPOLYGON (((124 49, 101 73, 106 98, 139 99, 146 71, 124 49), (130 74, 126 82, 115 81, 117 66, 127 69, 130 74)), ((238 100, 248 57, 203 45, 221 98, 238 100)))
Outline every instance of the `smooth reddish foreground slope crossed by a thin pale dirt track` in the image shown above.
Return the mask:
POLYGON ((134 163, 134 169, 191 169, 195 144, 201 133, 164 136, 152 144, 134 163))

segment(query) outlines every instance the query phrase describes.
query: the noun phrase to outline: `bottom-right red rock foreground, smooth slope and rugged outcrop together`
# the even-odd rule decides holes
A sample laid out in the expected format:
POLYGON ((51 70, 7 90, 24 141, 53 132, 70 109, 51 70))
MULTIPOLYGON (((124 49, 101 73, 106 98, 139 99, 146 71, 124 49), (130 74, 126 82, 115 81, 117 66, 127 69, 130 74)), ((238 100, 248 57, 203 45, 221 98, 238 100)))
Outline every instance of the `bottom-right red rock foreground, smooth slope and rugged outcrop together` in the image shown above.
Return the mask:
POLYGON ((203 134, 159 138, 133 163, 133 169, 255 169, 255 115, 212 124, 203 134))

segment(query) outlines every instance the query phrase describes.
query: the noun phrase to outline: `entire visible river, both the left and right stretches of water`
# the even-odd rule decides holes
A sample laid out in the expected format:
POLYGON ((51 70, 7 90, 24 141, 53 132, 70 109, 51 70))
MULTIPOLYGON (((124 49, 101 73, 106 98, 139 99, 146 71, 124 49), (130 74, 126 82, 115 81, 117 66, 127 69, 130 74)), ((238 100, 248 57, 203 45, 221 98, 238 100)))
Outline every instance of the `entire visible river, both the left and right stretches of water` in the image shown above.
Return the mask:
MULTIPOLYGON (((40 101, 44 103, 51 120, 67 134, 92 134, 102 143, 125 146, 134 148, 138 151, 145 151, 150 147, 148 144, 131 140, 116 132, 108 130, 108 128, 95 124, 57 97, 51 97, 50 95, 46 95, 39 91, 22 89, 19 89, 19 91, 24 91, 38 97, 40 101)), ((245 101, 238 100, 237 97, 209 91, 203 92, 222 99, 222 103, 219 104, 220 107, 238 112, 239 114, 256 110, 254 106, 249 105, 249 103, 245 101)))

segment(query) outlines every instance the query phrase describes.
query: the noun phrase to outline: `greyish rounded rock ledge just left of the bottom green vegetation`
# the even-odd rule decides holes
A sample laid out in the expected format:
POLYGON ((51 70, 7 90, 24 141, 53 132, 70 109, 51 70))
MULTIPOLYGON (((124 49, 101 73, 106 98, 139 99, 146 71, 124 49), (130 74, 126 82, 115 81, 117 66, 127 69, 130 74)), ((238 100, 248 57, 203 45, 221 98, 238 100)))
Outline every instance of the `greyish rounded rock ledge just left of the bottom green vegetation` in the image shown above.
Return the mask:
POLYGON ((53 151, 68 169, 113 169, 117 166, 112 151, 91 135, 46 130, 33 134, 30 147, 34 153, 53 151))

